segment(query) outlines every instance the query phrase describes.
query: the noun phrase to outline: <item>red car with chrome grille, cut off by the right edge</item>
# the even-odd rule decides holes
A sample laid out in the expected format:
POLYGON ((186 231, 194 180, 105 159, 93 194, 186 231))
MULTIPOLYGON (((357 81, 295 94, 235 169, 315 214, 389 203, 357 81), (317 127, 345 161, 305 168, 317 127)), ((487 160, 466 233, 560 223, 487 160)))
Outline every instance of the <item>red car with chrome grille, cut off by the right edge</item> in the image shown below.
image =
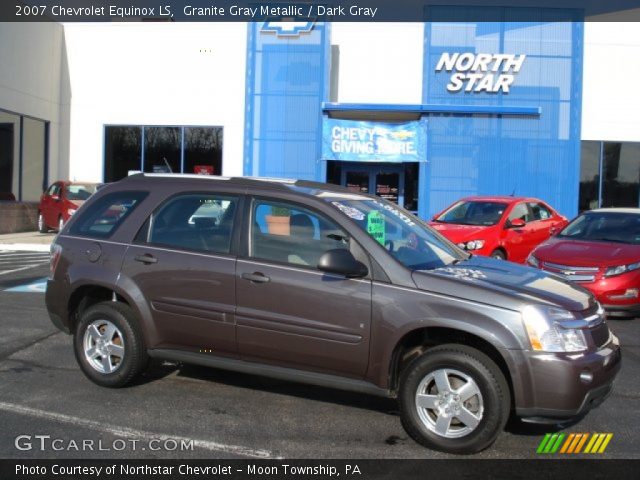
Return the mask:
POLYGON ((591 290, 610 316, 640 316, 640 209, 584 212, 527 263, 591 290))

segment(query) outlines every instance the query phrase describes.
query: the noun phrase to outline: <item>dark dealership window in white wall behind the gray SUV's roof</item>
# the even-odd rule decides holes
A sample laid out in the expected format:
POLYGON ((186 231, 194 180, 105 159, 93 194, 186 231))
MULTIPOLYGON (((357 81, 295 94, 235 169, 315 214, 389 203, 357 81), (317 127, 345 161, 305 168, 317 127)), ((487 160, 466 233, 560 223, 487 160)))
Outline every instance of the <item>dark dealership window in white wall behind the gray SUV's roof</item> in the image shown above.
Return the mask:
POLYGON ((136 170, 220 175, 222 127, 106 126, 104 181, 136 170))

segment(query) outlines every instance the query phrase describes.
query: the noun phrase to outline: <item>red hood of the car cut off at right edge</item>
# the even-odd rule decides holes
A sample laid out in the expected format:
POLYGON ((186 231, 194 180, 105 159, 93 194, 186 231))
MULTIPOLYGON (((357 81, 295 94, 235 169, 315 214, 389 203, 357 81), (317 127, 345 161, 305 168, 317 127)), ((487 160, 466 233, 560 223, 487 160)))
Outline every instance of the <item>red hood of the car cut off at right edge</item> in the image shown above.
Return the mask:
POLYGON ((555 237, 540 245, 535 256, 543 262, 576 267, 611 267, 640 260, 640 245, 588 242, 555 237))

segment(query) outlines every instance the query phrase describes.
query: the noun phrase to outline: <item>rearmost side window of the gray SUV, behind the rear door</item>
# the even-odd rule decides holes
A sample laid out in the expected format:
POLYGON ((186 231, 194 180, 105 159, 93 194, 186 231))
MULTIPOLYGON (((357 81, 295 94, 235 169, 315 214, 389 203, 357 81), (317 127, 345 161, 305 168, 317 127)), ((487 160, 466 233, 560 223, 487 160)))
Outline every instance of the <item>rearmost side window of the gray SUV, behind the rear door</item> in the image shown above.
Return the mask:
POLYGON ((72 235, 107 238, 133 212, 147 192, 114 192, 98 199, 88 208, 80 210, 80 216, 73 222, 72 235))

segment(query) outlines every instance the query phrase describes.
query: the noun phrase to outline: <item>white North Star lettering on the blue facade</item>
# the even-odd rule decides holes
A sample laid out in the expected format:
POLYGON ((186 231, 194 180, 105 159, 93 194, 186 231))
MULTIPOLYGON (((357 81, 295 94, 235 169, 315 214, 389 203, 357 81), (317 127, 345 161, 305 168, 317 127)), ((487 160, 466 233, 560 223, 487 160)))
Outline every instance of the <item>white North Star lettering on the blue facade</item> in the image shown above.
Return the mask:
POLYGON ((509 53, 443 53, 436 72, 451 74, 447 90, 464 92, 509 93, 515 74, 520 71, 526 55, 509 53))

